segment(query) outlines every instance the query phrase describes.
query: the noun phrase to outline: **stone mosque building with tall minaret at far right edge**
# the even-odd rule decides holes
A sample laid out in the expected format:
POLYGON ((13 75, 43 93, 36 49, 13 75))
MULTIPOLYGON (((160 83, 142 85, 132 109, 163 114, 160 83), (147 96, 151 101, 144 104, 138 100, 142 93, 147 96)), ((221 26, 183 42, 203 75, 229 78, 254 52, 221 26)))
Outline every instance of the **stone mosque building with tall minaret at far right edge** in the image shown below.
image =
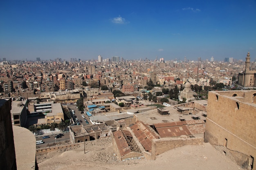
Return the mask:
POLYGON ((250 71, 250 52, 247 53, 245 71, 239 73, 238 84, 244 87, 256 87, 256 71, 250 71))

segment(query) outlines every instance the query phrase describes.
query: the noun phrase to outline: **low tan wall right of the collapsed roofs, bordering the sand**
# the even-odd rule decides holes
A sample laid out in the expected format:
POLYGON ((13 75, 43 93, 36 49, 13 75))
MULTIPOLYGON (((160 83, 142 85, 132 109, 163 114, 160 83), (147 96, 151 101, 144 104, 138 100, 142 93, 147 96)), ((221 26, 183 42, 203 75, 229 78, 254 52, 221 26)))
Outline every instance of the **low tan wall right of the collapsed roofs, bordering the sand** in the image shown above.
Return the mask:
POLYGON ((202 145, 203 143, 203 138, 187 138, 186 136, 180 138, 166 137, 161 139, 153 139, 151 151, 152 159, 155 160, 157 155, 174 148, 179 148, 186 145, 202 145))

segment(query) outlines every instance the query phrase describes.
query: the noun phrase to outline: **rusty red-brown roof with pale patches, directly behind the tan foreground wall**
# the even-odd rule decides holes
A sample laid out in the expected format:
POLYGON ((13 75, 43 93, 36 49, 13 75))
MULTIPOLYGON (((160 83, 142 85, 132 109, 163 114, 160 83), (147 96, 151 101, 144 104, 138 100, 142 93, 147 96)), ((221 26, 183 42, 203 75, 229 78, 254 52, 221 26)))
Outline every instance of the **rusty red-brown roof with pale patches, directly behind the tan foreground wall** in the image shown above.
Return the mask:
POLYGON ((191 135, 186 125, 157 128, 157 132, 160 137, 177 137, 181 135, 191 135))

